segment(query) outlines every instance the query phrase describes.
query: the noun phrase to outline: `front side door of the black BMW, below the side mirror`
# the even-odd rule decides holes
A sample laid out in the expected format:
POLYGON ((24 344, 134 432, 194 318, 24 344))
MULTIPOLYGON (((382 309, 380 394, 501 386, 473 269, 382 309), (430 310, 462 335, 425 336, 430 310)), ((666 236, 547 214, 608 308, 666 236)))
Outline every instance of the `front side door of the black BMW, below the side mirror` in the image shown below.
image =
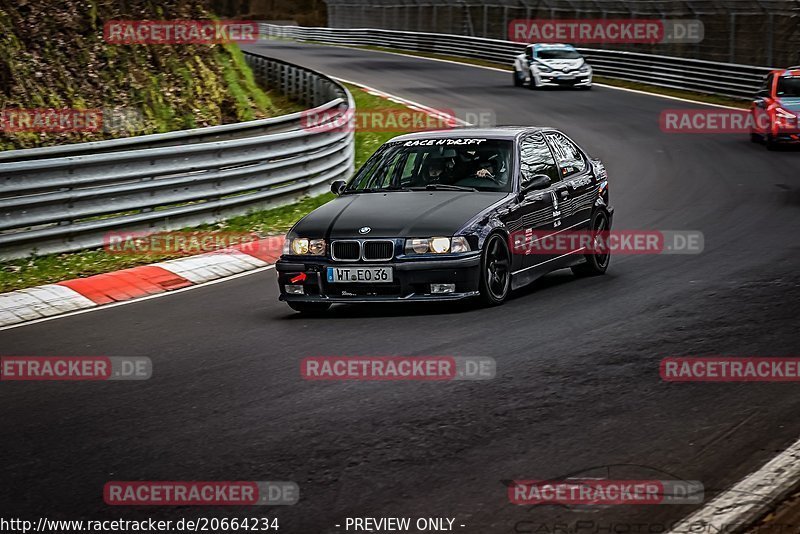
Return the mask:
POLYGON ((512 236, 511 246, 514 249, 512 252, 522 258, 517 268, 526 270, 556 255, 542 251, 537 245, 538 238, 542 234, 553 232, 552 189, 558 183, 559 170, 541 132, 524 137, 520 141, 519 148, 520 191, 538 175, 545 175, 551 181, 550 186, 545 189, 520 194, 519 204, 514 210, 514 219, 506 223, 512 236))

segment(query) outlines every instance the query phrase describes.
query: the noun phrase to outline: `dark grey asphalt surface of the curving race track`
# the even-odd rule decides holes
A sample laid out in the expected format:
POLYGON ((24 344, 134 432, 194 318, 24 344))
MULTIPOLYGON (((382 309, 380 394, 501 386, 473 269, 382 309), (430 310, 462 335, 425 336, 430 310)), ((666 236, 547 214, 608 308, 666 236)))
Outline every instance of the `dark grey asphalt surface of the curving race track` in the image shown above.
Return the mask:
POLYGON ((662 109, 699 106, 653 96, 531 92, 466 65, 257 48, 430 106, 561 128, 605 162, 615 229, 701 230, 705 251, 614 257, 599 278, 560 271, 494 309, 304 318, 278 302, 267 270, 0 332, 6 355, 154 364, 146 382, 0 385, 4 516, 269 516, 303 534, 356 516, 454 517, 468 533, 658 532, 696 506, 515 506, 502 481, 678 478, 701 481, 709 500, 800 435, 797 384, 664 383, 658 372, 666 356, 797 354, 800 153, 662 133, 662 109), (301 358, 319 355, 491 356, 497 378, 303 381, 301 358), (293 480, 302 496, 280 508, 112 509, 109 480, 293 480))

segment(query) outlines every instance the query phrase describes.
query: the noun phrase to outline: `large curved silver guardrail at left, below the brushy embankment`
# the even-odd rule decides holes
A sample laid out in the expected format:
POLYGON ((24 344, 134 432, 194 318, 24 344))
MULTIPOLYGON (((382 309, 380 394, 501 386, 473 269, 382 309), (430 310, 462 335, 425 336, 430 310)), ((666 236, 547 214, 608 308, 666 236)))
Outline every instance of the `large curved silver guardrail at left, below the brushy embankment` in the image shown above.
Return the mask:
POLYGON ((0 153, 0 259, 100 247, 112 231, 214 222, 325 192, 353 171, 353 98, 309 69, 246 54, 313 109, 239 124, 0 153), (303 127, 314 114, 326 121, 303 127))

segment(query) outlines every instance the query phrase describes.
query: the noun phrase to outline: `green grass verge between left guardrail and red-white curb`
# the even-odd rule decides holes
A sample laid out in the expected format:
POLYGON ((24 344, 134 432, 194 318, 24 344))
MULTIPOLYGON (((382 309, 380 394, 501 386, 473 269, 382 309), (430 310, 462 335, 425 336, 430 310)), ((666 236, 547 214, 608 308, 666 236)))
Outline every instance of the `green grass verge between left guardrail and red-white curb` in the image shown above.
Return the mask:
MULTIPOLYGON (((405 109, 405 106, 367 93, 359 87, 348 85, 353 94, 356 109, 364 111, 390 111, 405 109)), ((356 131, 356 167, 360 167, 375 150, 396 132, 356 131)), ((257 211, 232 217, 213 224, 184 228, 183 231, 202 232, 253 232, 261 237, 280 235, 305 214, 333 198, 330 193, 314 198, 305 198, 295 204, 265 211, 257 211)), ((95 274, 147 265, 168 259, 183 257, 182 254, 109 254, 103 249, 84 250, 66 254, 32 255, 27 258, 0 263, 0 292, 59 282, 72 278, 83 278, 95 274)))

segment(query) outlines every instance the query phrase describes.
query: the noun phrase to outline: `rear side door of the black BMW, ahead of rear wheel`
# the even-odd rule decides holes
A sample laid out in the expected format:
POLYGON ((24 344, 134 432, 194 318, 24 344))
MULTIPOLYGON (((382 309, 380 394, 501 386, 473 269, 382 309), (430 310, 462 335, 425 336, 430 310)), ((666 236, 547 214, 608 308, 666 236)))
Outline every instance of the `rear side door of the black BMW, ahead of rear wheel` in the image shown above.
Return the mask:
POLYGON ((546 132, 545 138, 553 150, 561 177, 553 189, 555 226, 561 230, 586 230, 597 199, 591 162, 578 145, 561 132, 546 132))

